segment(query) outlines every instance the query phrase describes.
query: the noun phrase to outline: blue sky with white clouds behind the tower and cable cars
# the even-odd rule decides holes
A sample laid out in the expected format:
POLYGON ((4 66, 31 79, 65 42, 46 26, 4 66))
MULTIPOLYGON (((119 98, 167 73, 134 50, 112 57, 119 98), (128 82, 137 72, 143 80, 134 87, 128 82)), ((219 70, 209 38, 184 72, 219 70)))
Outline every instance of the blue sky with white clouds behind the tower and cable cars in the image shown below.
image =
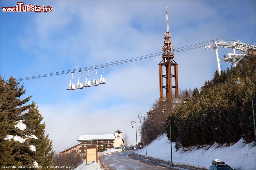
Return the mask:
MULTIPOLYGON (((1 7, 16 3, 0 1, 1 7)), ((29 3, 53 10, 0 12, 0 74, 6 79, 161 52, 166 4, 174 48, 216 38, 256 43, 256 1, 24 1, 29 3)), ((222 59, 232 50, 220 47, 218 52, 222 59)), ((200 89, 217 69, 212 48, 182 51, 174 57, 182 89, 200 89)), ((146 115, 159 98, 160 61, 158 56, 108 67, 105 85, 74 91, 67 90, 71 74, 25 80, 23 98, 33 95, 29 103, 38 105, 55 151, 78 144, 80 135, 116 130, 127 133, 135 144, 131 122, 139 124, 138 114, 146 115)), ((225 70, 230 64, 220 66, 225 70)), ((82 77, 86 75, 82 72, 82 77)), ((74 73, 72 83, 79 76, 74 73)))

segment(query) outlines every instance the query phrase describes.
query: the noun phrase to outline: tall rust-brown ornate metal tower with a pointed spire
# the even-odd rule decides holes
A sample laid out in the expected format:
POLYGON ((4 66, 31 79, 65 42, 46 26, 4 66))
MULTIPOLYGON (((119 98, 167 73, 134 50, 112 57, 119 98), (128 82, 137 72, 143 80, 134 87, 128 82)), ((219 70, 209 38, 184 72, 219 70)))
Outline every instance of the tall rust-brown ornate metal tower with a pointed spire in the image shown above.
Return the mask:
POLYGON ((169 23, 166 7, 166 25, 164 33, 164 44, 162 58, 163 60, 158 64, 159 65, 159 88, 160 88, 160 97, 159 101, 164 99, 163 89, 166 89, 166 98, 172 99, 172 89, 175 88, 175 98, 178 97, 178 64, 173 60, 173 45, 171 41, 172 34, 169 32, 169 23), (165 74, 163 75, 163 66, 165 67, 165 74), (174 74, 172 74, 172 66, 174 66, 174 74), (163 77, 166 80, 166 85, 163 86, 163 77), (174 77, 174 86, 172 85, 172 77, 174 77))

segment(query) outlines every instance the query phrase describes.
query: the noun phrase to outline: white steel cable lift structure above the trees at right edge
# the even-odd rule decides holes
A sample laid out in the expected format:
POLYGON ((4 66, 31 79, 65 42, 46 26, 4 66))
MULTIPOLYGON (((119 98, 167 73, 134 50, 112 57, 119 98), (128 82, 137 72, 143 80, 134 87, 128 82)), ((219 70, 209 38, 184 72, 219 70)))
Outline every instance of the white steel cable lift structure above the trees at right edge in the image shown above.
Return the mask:
MULTIPOLYGON (((232 64, 234 61, 240 61, 241 59, 248 60, 248 58, 251 56, 251 54, 256 54, 256 44, 246 44, 240 42, 240 40, 235 41, 223 41, 220 38, 213 40, 213 43, 211 44, 209 42, 209 45, 205 46, 206 49, 213 48, 216 53, 216 60, 217 60, 217 66, 218 66, 218 72, 220 73, 220 62, 219 61, 225 61, 227 63, 232 64), (222 46, 223 48, 232 48, 232 53, 228 53, 228 57, 224 55, 223 60, 219 60, 218 55, 218 47, 222 46), (244 54, 236 54, 236 50, 243 51, 244 54)), ((236 63, 233 64, 234 67, 236 67, 236 63)))

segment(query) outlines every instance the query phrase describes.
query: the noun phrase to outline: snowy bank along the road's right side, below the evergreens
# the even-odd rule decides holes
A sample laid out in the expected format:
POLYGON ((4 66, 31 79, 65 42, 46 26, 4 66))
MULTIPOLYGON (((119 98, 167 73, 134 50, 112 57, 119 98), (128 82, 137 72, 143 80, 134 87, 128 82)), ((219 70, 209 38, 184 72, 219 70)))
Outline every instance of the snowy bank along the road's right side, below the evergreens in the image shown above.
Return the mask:
MULTIPOLYGON (((211 161, 214 159, 223 160, 233 169, 237 170, 255 170, 256 169, 256 149, 255 142, 245 144, 243 139, 231 146, 218 147, 217 143, 212 146, 208 145, 203 148, 197 147, 180 148, 178 151, 174 148, 175 142, 172 142, 173 163, 190 165, 198 168, 209 168, 211 161), (183 150, 188 150, 184 152, 183 150)), ((145 156, 145 147, 138 151, 138 155, 145 156)), ((161 135, 147 146, 147 156, 162 160, 170 161, 170 141, 166 134, 161 135)))

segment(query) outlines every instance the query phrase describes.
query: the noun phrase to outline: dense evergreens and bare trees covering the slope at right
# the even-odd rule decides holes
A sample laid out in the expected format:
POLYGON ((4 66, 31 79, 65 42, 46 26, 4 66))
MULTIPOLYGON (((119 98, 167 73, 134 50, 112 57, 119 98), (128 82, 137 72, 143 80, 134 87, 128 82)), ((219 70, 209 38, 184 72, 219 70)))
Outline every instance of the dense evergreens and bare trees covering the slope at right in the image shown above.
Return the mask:
MULTIPOLYGON (((256 110, 256 56, 252 55, 246 63, 251 71, 256 110)), ((214 142, 233 143, 241 138, 245 143, 254 141, 249 70, 245 64, 239 63, 233 71, 240 70, 240 75, 234 74, 229 68, 220 74, 216 71, 212 80, 206 81, 200 90, 184 90, 180 97, 182 102, 170 103, 172 141, 176 141, 177 149, 180 146, 211 145, 214 142), (240 85, 235 82, 238 76, 242 79, 240 85)), ((156 124, 158 127, 146 128, 147 141, 156 139, 163 132, 170 139, 169 115, 161 113, 158 101, 153 105, 156 111, 147 118, 146 126, 151 128, 152 124, 156 124)), ((143 133, 144 130, 142 128, 143 133)))

